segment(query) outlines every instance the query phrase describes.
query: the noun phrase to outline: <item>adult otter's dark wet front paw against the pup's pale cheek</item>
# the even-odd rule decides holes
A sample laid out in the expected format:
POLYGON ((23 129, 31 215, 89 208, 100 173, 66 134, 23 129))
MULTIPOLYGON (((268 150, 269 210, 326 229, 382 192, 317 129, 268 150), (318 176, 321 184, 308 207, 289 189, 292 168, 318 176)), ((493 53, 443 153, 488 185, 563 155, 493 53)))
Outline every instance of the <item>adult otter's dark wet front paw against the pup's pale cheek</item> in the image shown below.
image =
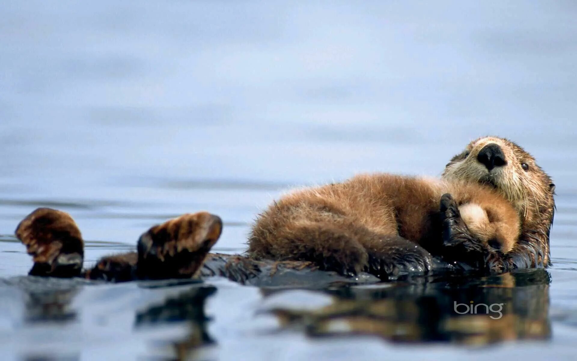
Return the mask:
POLYGON ((467 229, 451 194, 441 196, 440 211, 443 219, 443 258, 467 263, 484 262, 485 246, 467 229))

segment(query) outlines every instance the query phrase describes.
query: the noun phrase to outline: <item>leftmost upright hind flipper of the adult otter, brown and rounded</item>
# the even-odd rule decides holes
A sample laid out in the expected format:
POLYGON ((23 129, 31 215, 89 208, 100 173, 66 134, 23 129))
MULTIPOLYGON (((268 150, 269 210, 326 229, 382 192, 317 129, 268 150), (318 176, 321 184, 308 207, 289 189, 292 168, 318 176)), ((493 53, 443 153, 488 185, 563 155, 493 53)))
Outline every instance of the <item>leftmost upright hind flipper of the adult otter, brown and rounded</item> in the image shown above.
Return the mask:
POLYGON ((39 208, 16 228, 16 237, 32 255, 31 276, 75 277, 82 270, 84 242, 68 213, 39 208))

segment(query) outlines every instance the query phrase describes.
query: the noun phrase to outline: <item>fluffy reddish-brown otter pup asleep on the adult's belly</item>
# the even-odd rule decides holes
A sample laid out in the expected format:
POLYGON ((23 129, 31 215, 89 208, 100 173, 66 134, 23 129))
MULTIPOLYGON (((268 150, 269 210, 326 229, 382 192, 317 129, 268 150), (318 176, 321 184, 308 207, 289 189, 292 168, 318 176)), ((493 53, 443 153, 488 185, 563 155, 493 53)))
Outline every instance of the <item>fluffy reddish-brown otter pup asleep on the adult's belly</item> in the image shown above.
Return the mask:
POLYGON ((433 254, 441 252, 439 200, 444 193, 451 193, 459 206, 480 206, 490 217, 471 233, 479 232, 475 236, 499 244, 503 252, 511 250, 519 233, 518 215, 492 189, 462 181, 373 174, 284 196, 257 219, 248 254, 382 276, 372 269, 374 259, 399 254, 418 263, 426 260, 418 245, 433 254))

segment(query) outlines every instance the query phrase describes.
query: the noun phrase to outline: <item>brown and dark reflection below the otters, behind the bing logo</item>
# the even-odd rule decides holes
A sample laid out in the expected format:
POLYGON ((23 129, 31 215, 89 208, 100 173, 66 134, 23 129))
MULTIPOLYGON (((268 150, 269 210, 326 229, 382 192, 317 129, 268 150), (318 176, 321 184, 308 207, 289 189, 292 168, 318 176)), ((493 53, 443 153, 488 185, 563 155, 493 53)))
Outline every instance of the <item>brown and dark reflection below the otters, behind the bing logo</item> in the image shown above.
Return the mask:
POLYGON ((551 336, 546 270, 420 281, 338 288, 327 291, 328 306, 270 311, 283 327, 301 327, 314 337, 370 334, 398 342, 484 345, 551 336))

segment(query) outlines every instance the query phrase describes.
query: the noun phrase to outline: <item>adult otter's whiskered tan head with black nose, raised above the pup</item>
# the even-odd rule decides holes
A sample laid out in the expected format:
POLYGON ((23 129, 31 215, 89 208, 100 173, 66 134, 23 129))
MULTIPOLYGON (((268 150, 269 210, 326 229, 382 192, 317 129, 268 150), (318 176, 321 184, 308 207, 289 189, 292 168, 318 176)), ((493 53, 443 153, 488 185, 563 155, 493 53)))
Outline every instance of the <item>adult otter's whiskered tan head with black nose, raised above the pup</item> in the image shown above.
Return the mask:
POLYGON ((535 158, 507 139, 473 140, 451 159, 443 177, 496 188, 518 211, 523 226, 547 223, 549 228, 553 221, 555 185, 535 158))

